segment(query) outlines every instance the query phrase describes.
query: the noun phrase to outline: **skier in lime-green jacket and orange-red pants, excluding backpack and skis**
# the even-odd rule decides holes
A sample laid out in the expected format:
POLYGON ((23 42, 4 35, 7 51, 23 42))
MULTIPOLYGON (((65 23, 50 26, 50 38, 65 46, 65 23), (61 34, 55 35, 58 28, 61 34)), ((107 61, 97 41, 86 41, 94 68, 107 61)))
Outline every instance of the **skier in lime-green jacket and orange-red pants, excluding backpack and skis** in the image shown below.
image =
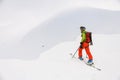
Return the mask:
POLYGON ((78 58, 80 60, 83 60, 82 58, 82 50, 85 49, 86 51, 86 54, 88 55, 88 61, 87 63, 88 64, 92 64, 93 63, 93 56, 90 52, 90 49, 89 49, 89 43, 86 41, 86 28, 84 26, 81 26, 80 27, 80 30, 81 30, 81 42, 80 42, 80 47, 78 49, 78 58))

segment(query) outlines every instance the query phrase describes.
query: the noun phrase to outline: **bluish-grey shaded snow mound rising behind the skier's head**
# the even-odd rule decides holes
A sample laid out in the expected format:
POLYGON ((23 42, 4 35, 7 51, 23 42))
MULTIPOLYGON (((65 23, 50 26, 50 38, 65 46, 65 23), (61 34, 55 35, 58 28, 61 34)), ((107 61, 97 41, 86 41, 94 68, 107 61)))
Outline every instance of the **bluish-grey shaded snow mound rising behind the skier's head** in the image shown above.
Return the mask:
POLYGON ((119 11, 94 8, 66 11, 30 31, 21 44, 34 49, 31 54, 42 53, 63 41, 74 40, 80 34, 81 25, 93 34, 119 34, 119 14, 119 11))

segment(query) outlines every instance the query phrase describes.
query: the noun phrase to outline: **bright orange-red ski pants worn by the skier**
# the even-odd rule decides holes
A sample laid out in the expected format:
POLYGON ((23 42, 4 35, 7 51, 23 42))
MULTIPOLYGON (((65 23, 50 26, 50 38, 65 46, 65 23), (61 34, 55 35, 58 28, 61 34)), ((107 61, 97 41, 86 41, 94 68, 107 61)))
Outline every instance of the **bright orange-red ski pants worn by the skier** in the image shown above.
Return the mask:
POLYGON ((89 43, 83 42, 82 48, 78 49, 78 56, 79 57, 82 57, 82 50, 83 49, 85 49, 85 51, 86 51, 86 53, 88 55, 89 60, 93 59, 92 54, 91 54, 90 49, 89 49, 89 43))

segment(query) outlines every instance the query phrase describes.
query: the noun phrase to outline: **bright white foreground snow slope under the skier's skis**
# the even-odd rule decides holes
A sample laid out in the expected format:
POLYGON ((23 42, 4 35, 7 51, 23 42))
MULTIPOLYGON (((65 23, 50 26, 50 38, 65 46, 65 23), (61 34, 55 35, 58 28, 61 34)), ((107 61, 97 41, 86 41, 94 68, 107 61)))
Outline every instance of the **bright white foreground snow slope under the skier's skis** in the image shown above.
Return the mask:
MULTIPOLYGON (((0 80, 120 80, 120 35, 94 35, 91 52, 98 71, 71 58, 79 46, 79 37, 62 42, 36 60, 0 60, 0 80)), ((77 54, 75 55, 77 57, 77 54)), ((83 51, 83 56, 85 52, 83 51)))

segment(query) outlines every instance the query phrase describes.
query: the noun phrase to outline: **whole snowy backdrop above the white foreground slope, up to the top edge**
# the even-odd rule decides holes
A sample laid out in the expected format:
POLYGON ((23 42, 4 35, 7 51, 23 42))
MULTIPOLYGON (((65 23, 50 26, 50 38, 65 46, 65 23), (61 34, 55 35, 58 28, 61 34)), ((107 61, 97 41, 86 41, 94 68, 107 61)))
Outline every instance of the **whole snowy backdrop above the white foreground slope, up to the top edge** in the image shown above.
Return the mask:
POLYGON ((2 0, 0 58, 36 59, 51 47, 74 40, 80 25, 93 33, 120 33, 119 1, 108 1, 2 0))

